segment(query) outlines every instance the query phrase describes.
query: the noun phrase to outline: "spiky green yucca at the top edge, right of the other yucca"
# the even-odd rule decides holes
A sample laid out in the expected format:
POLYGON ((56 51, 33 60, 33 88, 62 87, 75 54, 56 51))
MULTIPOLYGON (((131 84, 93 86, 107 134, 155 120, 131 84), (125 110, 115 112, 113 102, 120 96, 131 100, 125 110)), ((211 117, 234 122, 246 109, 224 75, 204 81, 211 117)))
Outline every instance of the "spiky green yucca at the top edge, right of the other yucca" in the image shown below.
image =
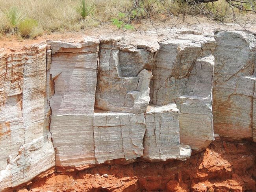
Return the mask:
POLYGON ((81 17, 83 22, 85 19, 92 15, 95 11, 95 4, 93 2, 85 2, 85 0, 81 0, 80 3, 75 7, 76 13, 78 13, 81 17))

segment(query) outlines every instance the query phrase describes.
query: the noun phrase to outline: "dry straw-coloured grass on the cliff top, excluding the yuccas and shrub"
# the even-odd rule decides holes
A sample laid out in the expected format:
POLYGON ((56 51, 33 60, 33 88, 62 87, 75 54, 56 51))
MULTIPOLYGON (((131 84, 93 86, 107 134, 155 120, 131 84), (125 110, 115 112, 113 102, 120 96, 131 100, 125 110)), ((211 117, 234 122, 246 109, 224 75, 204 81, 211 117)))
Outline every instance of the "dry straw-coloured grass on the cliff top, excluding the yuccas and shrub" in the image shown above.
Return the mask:
MULTIPOLYGON (((52 33, 54 31, 80 31, 81 29, 97 26, 102 22, 111 23, 111 19, 117 18, 118 14, 125 13, 128 15, 123 20, 129 22, 127 14, 131 11, 132 0, 94 0, 95 12, 91 17, 87 17, 85 22, 81 22, 80 15, 76 12, 75 7, 80 0, 0 0, 0 33, 7 34, 8 22, 6 12, 13 7, 17 7, 24 18, 37 21, 37 26, 32 30, 30 38, 35 38, 43 33, 52 33)), ((214 4, 204 4, 203 8, 195 8, 182 4, 178 1, 165 0, 165 4, 156 0, 145 0, 143 5, 150 14, 158 15, 178 15, 182 14, 205 14, 217 20, 223 21, 231 10, 228 4, 223 1, 214 4)), ((137 14, 138 10, 135 10, 137 14)), ((137 20, 147 17, 143 9, 140 9, 141 15, 136 15, 137 20), (144 12, 143 12, 144 11, 144 12)), ((132 17, 134 17, 132 15, 132 17)))

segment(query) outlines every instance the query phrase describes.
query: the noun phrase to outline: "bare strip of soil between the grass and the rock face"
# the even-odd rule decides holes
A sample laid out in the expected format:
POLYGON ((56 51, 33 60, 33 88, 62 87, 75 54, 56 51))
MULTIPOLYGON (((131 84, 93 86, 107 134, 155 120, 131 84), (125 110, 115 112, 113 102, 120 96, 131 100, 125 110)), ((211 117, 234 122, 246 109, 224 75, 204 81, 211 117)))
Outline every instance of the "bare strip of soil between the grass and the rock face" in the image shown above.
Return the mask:
POLYGON ((85 35, 87 36, 95 36, 100 37, 102 35, 108 34, 129 34, 129 33, 138 33, 140 34, 143 31, 156 31, 158 35, 161 36, 161 29, 167 28, 186 28, 190 30, 200 31, 200 32, 212 32, 212 31, 221 31, 221 30, 249 30, 252 32, 256 31, 256 25, 254 25, 254 20, 256 20, 256 16, 253 14, 248 14, 248 17, 245 20, 239 20, 239 23, 222 23, 216 22, 214 20, 210 20, 204 16, 197 15, 180 15, 178 17, 173 16, 170 20, 166 22, 160 22, 156 19, 154 21, 154 26, 152 26, 151 21, 148 19, 141 20, 141 22, 134 24, 136 30, 119 30, 117 27, 113 26, 110 23, 101 24, 95 28, 86 28, 81 31, 67 31, 67 32, 56 32, 52 34, 45 34, 35 39, 21 39, 17 36, 0 36, 0 52, 4 50, 7 51, 19 51, 20 48, 26 45, 38 44, 41 42, 45 42, 46 40, 65 40, 65 41, 77 41, 83 39, 85 35))

